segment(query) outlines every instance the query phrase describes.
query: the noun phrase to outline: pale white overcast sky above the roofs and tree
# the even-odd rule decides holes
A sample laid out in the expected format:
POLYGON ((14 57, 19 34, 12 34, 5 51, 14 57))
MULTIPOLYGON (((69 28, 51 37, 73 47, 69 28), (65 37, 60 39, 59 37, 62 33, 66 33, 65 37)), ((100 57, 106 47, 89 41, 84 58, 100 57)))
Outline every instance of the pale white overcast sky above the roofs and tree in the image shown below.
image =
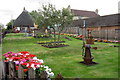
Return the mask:
POLYGON ((25 7, 27 11, 38 10, 42 4, 52 3, 56 8, 71 6, 72 9, 95 11, 110 15, 118 13, 120 0, 0 0, 0 23, 6 25, 11 19, 16 19, 25 7))

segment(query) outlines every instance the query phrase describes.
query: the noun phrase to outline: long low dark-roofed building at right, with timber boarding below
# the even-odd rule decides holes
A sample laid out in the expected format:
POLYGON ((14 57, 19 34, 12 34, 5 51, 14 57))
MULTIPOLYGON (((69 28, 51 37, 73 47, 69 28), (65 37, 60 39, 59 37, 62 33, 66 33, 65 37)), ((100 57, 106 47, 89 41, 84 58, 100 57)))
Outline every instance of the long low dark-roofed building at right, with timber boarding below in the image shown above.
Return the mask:
MULTIPOLYGON (((100 39, 114 39, 119 40, 120 34, 120 14, 111 14, 105 16, 92 17, 87 19, 74 20, 72 27, 75 29, 74 33, 81 33, 86 27, 87 30, 92 31, 94 38, 100 39), (80 31, 81 30, 81 31, 80 31)), ((84 35, 84 34, 83 34, 84 35)))

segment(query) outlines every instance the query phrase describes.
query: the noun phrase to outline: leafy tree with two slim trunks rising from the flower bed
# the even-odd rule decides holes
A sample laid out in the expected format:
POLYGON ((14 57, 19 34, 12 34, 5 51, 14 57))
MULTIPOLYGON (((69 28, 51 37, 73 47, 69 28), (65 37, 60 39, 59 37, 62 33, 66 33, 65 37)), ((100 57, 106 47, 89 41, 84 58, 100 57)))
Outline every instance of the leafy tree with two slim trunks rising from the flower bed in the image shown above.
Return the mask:
POLYGON ((37 11, 32 11, 30 13, 34 18, 36 24, 40 27, 47 28, 48 26, 54 31, 54 41, 56 41, 55 32, 58 31, 58 41, 60 40, 60 33, 70 25, 73 19, 73 14, 69 11, 69 8, 63 8, 62 10, 57 10, 52 4, 43 5, 43 9, 37 11), (57 30, 56 30, 57 28, 57 30))

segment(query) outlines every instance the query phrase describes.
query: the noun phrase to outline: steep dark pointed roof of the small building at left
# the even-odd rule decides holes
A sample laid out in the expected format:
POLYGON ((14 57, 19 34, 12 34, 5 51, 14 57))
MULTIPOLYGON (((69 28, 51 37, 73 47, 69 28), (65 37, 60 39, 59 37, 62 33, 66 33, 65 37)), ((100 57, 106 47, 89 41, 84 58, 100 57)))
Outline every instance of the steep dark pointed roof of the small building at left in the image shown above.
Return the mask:
POLYGON ((23 12, 18 16, 18 18, 13 23, 15 27, 33 27, 34 23, 32 17, 28 13, 28 11, 23 10, 23 12))

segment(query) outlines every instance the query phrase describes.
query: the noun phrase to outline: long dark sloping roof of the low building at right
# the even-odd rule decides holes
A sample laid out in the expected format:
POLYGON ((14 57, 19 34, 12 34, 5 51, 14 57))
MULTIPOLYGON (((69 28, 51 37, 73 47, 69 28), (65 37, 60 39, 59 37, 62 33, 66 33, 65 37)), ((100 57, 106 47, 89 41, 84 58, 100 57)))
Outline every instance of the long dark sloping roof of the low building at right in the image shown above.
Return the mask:
MULTIPOLYGON (((118 20, 120 14, 112 14, 94 18, 84 19, 86 21, 86 27, 98 27, 98 26, 120 26, 120 20, 118 20)), ((73 21, 74 26, 83 26, 83 20, 73 21)))

